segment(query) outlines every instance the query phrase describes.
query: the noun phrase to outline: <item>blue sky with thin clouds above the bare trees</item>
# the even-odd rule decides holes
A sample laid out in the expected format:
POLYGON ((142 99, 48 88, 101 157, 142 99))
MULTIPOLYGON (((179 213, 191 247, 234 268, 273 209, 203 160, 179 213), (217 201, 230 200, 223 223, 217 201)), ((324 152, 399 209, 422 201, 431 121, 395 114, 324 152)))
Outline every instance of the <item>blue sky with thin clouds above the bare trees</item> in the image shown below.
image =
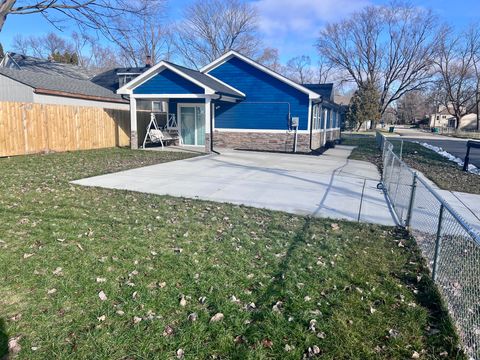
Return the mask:
MULTIPOLYGON (((170 18, 178 18, 192 0, 170 0, 170 18)), ((366 6, 387 3, 388 0, 246 0, 258 8, 259 33, 265 47, 277 48, 281 60, 309 55, 316 58, 314 43, 320 30, 329 22, 339 21, 366 6)), ((412 4, 431 8, 448 24, 457 28, 480 23, 479 0, 412 0, 412 4)), ((58 32, 41 15, 9 16, 0 33, 0 43, 6 51, 12 38, 58 32)), ((68 33, 65 34, 68 36, 68 33)), ((66 36, 66 37, 67 37, 66 36)))

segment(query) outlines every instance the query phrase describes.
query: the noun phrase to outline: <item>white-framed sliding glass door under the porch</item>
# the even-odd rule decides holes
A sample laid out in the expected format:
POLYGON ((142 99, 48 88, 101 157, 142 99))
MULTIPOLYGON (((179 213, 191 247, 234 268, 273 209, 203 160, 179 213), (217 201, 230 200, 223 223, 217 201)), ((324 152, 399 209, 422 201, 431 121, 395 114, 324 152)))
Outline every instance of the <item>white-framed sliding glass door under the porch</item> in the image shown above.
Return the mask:
POLYGON ((205 145, 205 106, 182 104, 179 112, 183 145, 205 145))

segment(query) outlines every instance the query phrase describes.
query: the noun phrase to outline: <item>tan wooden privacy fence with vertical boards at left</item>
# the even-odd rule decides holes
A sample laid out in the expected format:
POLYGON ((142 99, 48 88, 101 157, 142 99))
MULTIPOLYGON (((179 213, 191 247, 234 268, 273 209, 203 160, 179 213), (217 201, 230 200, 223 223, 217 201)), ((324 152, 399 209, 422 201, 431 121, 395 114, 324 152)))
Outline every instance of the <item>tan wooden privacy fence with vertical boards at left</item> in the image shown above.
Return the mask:
POLYGON ((128 110, 0 102, 0 156, 129 144, 128 110))

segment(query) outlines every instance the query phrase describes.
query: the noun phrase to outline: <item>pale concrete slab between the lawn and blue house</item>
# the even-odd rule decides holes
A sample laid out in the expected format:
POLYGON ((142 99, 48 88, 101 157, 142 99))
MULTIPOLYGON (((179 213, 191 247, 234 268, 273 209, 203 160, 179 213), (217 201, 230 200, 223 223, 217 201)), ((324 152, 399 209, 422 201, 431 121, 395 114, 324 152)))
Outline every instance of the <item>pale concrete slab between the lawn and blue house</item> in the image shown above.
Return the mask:
POLYGON ((376 167, 348 160, 351 150, 337 146, 321 156, 225 150, 73 183, 394 225, 376 189, 376 167))

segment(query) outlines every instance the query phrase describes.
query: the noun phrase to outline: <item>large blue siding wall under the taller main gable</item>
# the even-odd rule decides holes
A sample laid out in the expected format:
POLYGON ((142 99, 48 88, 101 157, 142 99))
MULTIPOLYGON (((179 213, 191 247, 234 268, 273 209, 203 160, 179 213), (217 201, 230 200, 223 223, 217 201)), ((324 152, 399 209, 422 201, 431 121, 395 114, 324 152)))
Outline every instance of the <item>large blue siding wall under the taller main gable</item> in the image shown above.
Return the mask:
POLYGON ((291 116, 300 118, 299 129, 307 129, 307 94, 236 57, 209 74, 246 95, 238 104, 215 104, 215 127, 287 130, 289 103, 291 116))

